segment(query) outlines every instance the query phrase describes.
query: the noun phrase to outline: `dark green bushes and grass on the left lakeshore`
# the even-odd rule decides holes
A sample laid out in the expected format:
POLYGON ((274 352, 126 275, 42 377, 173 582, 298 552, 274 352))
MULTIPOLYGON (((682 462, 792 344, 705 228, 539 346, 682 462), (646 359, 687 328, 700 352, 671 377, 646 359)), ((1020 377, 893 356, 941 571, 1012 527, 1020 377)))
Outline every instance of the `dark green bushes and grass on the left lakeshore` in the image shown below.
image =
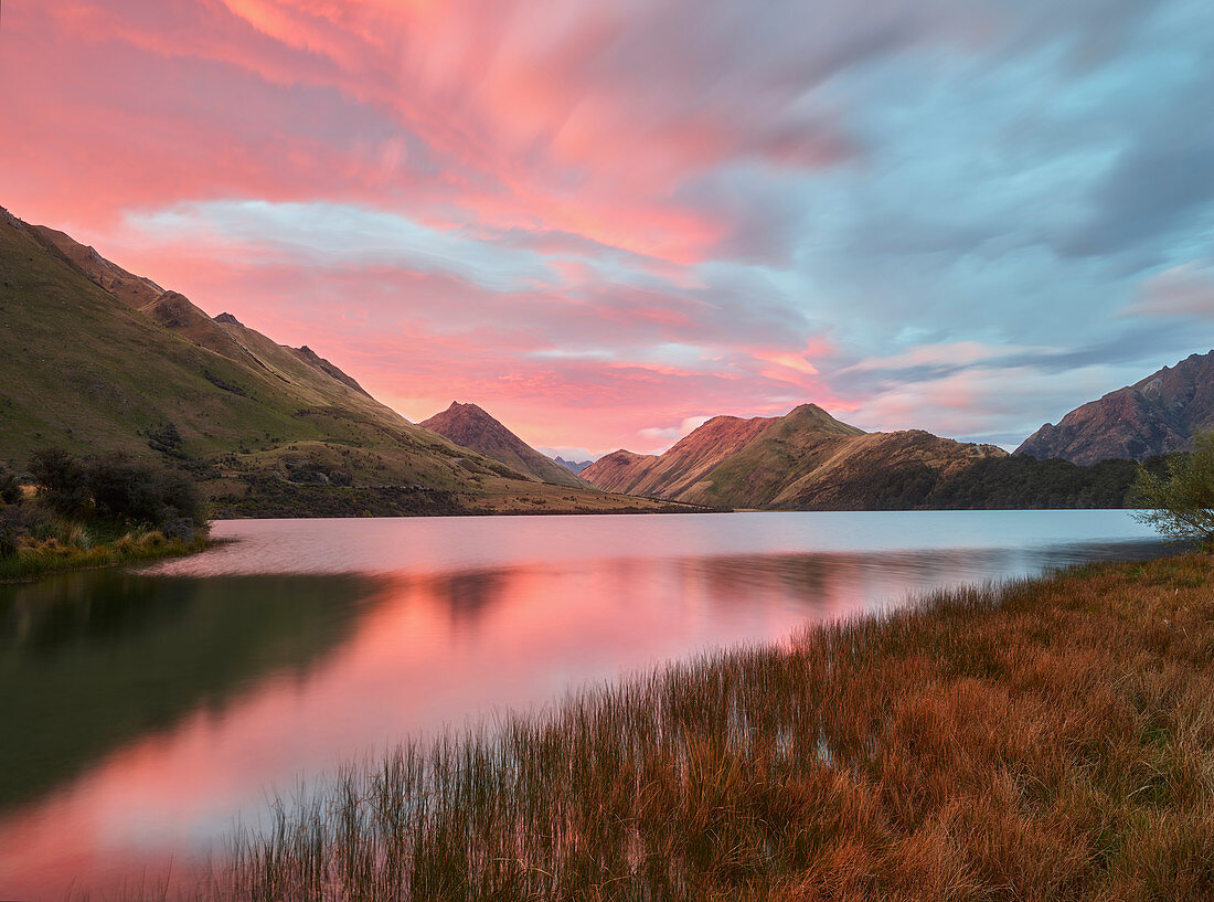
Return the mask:
POLYGON ((44 448, 27 493, 0 469, 0 579, 183 555, 206 545, 206 517, 185 473, 113 453, 44 448), (27 498, 27 494, 29 495, 27 498))

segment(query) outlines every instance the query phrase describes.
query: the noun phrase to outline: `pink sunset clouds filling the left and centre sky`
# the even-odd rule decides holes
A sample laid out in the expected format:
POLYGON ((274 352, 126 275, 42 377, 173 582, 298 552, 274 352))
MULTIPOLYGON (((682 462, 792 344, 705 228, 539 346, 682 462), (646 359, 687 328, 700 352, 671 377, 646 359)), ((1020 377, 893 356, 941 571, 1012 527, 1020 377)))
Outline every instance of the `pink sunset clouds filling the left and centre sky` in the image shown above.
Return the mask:
POLYGON ((461 397, 533 443, 607 449, 704 412, 847 403, 795 312, 697 271, 753 223, 677 191, 737 160, 855 153, 826 112, 790 112, 804 84, 781 74, 788 47, 722 81, 719 36, 683 46, 680 16, 623 0, 5 13, 0 81, 17 87, 0 118, 19 125, 0 143, 0 203, 316 347, 414 419, 461 397), (409 260, 314 263, 268 227, 146 225, 231 199, 379 210, 544 265, 490 289, 409 260))

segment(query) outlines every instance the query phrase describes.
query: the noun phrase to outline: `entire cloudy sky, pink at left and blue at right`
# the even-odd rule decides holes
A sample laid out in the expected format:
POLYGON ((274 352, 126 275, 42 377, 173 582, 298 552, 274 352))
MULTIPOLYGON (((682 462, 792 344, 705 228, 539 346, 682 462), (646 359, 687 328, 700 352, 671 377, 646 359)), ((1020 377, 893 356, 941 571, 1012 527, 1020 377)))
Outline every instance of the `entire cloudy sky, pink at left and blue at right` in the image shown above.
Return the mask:
POLYGON ((1214 347, 1208 0, 8 0, 0 86, 12 214, 565 456, 1214 347))

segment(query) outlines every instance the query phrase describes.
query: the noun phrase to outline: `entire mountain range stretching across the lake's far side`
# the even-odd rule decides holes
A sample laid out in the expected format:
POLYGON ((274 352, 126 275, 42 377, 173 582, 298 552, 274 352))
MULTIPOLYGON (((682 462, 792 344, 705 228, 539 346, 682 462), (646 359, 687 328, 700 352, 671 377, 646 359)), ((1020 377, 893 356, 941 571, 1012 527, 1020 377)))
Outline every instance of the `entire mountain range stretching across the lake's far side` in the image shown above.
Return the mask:
POLYGON ((220 516, 1119 506, 1133 460, 1214 429, 1212 351, 1046 424, 1015 456, 802 404, 715 416, 663 454, 552 460, 476 404, 409 422, 308 346, 212 318, 4 210, 0 342, 0 459, 169 456, 220 516))

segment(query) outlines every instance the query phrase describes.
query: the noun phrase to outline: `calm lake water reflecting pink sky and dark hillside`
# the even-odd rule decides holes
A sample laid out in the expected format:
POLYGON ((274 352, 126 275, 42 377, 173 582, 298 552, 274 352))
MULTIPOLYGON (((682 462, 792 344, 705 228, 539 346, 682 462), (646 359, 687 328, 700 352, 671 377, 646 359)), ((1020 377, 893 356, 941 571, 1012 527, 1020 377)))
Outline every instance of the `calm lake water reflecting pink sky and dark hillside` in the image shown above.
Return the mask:
POLYGON ((1123 511, 234 521, 0 585, 0 898, 188 870, 267 796, 937 586, 1163 546, 1123 511))

